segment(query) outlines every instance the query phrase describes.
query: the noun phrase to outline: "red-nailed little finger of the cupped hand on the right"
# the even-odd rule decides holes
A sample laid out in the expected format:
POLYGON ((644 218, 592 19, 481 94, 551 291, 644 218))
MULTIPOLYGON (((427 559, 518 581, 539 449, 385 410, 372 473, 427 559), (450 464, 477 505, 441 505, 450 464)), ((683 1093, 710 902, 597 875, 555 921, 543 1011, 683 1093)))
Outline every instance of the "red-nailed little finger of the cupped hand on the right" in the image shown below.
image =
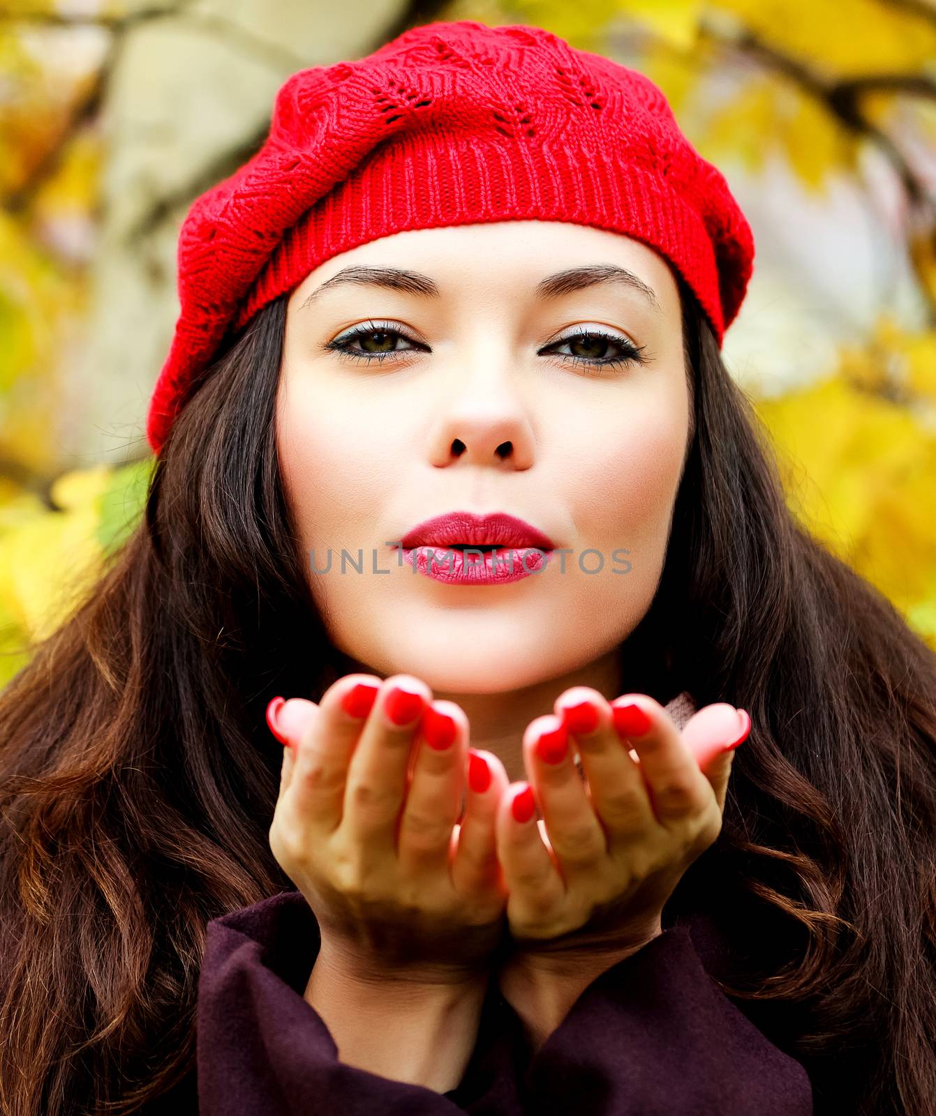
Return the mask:
POLYGON ((565 882, 539 837, 536 798, 528 782, 507 787, 497 808, 495 829, 497 858, 509 893, 510 922, 522 925, 525 917, 539 922, 539 916, 562 905, 565 882))

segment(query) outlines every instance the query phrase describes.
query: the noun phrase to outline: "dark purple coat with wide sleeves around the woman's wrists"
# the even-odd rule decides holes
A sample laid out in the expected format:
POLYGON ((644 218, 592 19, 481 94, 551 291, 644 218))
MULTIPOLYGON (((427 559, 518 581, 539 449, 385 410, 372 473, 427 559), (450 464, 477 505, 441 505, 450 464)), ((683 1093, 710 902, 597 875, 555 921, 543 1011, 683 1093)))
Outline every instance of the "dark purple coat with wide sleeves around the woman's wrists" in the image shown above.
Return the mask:
POLYGON ((493 980, 465 1076, 439 1094, 338 1060, 324 1020, 303 999, 318 924, 300 893, 283 892, 208 924, 197 1083, 175 1090, 165 1112, 814 1116, 804 1067, 710 979, 727 960, 714 924, 690 916, 667 925, 665 912, 663 927, 596 978, 532 1057, 493 980))

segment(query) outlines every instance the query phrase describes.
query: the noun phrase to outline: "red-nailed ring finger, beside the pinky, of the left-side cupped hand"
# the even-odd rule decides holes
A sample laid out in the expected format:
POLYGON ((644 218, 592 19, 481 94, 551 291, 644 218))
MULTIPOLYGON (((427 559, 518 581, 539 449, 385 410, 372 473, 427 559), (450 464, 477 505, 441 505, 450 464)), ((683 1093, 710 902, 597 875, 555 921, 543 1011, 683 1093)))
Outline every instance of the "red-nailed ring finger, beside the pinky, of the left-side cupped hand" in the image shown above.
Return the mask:
POLYGON ((397 836, 397 856, 411 873, 447 867, 461 812, 468 718, 455 702, 433 701, 417 733, 412 780, 397 836))

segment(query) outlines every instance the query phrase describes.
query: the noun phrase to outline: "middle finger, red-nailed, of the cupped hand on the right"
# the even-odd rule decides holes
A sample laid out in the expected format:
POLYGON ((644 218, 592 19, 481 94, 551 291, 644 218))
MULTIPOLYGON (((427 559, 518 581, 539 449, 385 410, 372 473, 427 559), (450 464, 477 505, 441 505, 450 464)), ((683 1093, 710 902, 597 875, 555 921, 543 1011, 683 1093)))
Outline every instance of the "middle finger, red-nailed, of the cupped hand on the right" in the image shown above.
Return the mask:
POLYGON ((609 839, 646 833, 656 815, 640 768, 614 728, 609 702, 589 686, 572 686, 560 694, 555 709, 571 727, 589 797, 609 839))

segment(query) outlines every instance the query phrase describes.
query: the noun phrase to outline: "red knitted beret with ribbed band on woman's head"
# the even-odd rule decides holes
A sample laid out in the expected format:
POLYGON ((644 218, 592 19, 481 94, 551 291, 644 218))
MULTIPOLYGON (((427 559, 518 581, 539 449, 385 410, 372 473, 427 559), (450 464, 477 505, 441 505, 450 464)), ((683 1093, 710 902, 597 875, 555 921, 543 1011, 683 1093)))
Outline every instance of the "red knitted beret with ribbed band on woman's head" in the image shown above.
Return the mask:
POLYGON ((153 451, 226 333, 319 263, 408 229, 506 220, 641 240, 681 273, 719 346, 752 273, 744 214, 648 77, 537 27, 422 25, 293 74, 260 150, 192 203, 153 451))

